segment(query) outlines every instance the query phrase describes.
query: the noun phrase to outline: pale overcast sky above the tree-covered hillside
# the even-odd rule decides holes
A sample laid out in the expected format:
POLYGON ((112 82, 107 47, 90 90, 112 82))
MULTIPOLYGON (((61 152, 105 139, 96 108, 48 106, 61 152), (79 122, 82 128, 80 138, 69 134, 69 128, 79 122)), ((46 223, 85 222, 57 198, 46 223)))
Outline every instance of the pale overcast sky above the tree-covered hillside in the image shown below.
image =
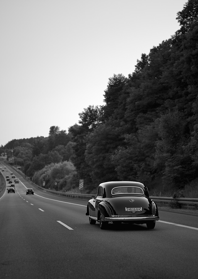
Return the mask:
POLYGON ((178 30, 187 0, 0 0, 0 146, 68 130, 114 74, 178 30))

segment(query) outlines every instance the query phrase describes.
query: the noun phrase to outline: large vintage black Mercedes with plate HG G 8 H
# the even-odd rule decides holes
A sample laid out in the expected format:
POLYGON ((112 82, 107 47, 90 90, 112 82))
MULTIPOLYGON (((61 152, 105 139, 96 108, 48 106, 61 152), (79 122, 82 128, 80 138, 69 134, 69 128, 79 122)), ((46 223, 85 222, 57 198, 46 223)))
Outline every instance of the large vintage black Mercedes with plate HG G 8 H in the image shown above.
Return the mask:
POLYGON ((98 186, 97 197, 88 201, 86 215, 89 223, 100 223, 106 229, 109 222, 113 224, 146 224, 154 229, 159 220, 156 203, 149 198, 148 188, 133 181, 104 182, 98 186))

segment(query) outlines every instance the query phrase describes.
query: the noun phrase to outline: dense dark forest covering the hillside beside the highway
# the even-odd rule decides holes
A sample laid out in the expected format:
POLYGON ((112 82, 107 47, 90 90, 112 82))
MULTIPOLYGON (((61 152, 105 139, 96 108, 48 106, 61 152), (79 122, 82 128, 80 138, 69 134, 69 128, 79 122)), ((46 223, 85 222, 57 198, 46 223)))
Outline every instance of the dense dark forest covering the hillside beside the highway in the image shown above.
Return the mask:
POLYGON ((109 78, 104 106, 79 113, 66 131, 1 146, 26 176, 45 187, 71 190, 84 179, 140 181, 182 189, 198 177, 198 2, 188 0, 180 29, 137 60, 135 71, 109 78), (57 182, 57 183, 55 183, 57 182))

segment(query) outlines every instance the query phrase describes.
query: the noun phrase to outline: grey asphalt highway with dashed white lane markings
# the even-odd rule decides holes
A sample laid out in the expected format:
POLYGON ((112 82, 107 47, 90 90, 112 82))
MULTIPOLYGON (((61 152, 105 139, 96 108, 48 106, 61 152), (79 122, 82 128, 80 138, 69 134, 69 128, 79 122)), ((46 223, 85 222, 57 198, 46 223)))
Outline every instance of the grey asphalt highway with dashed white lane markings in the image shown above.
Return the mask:
POLYGON ((0 198, 1 279, 198 277, 197 216, 160 211, 153 230, 101 230, 85 216, 87 201, 26 195, 32 185, 17 176, 15 194, 0 198))

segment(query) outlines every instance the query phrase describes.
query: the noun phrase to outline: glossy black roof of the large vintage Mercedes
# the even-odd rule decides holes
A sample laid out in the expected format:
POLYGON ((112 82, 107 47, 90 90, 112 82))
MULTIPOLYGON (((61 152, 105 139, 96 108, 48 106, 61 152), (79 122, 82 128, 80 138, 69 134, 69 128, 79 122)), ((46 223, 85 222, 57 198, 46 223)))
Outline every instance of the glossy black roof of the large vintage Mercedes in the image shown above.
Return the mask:
MULTIPOLYGON (((105 191, 105 196, 106 197, 112 197, 111 190, 115 187, 124 187, 124 186, 134 186, 134 187, 140 187, 143 191, 144 194, 148 195, 148 189, 146 186, 144 186, 143 183, 141 182, 136 182, 136 181, 109 181, 109 182, 103 182, 99 186, 102 186, 105 191)), ((98 186, 98 187, 99 187, 98 186)))

